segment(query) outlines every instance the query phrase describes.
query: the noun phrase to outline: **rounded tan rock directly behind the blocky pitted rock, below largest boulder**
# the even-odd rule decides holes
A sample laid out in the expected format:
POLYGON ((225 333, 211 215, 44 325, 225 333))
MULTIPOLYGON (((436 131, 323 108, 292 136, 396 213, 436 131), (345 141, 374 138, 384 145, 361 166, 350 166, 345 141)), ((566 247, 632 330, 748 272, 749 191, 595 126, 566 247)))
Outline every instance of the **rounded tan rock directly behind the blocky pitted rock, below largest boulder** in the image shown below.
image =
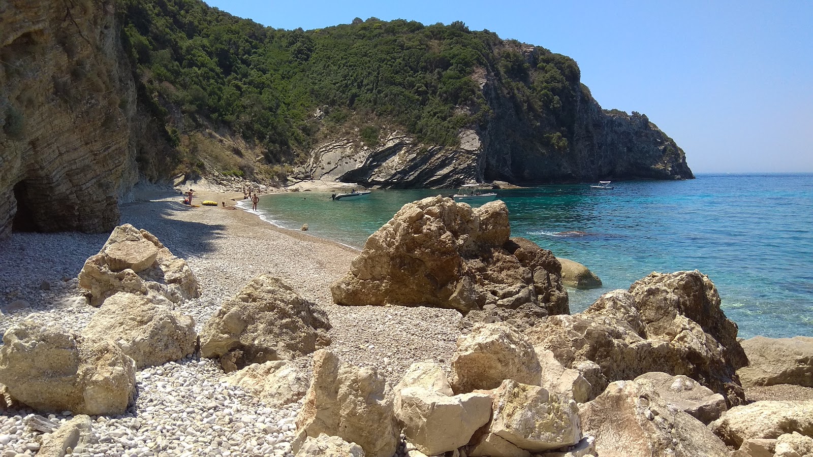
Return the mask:
POLYGON ((541 367, 528 339, 502 323, 477 324, 459 337, 451 361, 455 393, 495 389, 506 379, 539 385, 541 367))

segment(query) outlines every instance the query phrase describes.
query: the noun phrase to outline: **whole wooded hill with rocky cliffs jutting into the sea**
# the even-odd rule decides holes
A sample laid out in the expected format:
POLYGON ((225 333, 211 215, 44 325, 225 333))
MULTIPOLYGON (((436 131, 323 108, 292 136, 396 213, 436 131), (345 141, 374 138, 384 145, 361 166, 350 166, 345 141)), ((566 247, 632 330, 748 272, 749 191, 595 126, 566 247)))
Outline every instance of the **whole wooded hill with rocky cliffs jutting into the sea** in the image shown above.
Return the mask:
POLYGON ((602 111, 573 59, 463 23, 287 31, 197 0, 117 11, 138 102, 181 171, 389 187, 693 177, 645 115, 602 111))

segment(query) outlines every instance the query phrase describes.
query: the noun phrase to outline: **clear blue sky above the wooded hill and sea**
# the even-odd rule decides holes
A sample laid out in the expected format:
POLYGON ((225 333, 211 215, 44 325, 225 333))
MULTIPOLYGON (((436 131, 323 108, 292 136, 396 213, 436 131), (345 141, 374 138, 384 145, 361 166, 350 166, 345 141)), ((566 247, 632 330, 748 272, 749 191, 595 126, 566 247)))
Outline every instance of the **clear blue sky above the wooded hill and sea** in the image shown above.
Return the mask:
POLYGON ((813 172, 811 0, 207 3, 286 29, 462 20, 576 59, 602 107, 649 116, 694 172, 813 172))

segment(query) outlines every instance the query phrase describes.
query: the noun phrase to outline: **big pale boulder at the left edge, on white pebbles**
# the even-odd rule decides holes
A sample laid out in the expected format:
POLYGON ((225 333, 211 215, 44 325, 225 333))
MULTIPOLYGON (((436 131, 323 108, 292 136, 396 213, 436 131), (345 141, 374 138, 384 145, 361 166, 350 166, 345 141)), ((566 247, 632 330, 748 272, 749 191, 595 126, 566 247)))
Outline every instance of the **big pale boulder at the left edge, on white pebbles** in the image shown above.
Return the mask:
POLYGON ((135 363, 110 340, 25 320, 3 335, 0 379, 37 411, 122 414, 135 394, 135 363))

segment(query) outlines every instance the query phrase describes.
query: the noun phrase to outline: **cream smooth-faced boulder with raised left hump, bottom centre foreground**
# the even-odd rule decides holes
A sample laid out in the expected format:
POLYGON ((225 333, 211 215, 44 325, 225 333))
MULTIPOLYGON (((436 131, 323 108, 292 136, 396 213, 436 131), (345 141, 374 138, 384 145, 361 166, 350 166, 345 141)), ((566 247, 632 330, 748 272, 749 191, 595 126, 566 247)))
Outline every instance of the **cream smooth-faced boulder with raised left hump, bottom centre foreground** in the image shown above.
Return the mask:
POLYGON ((413 363, 393 391, 395 417, 406 439, 425 455, 465 445, 491 417, 491 396, 453 396, 437 363, 413 363))

